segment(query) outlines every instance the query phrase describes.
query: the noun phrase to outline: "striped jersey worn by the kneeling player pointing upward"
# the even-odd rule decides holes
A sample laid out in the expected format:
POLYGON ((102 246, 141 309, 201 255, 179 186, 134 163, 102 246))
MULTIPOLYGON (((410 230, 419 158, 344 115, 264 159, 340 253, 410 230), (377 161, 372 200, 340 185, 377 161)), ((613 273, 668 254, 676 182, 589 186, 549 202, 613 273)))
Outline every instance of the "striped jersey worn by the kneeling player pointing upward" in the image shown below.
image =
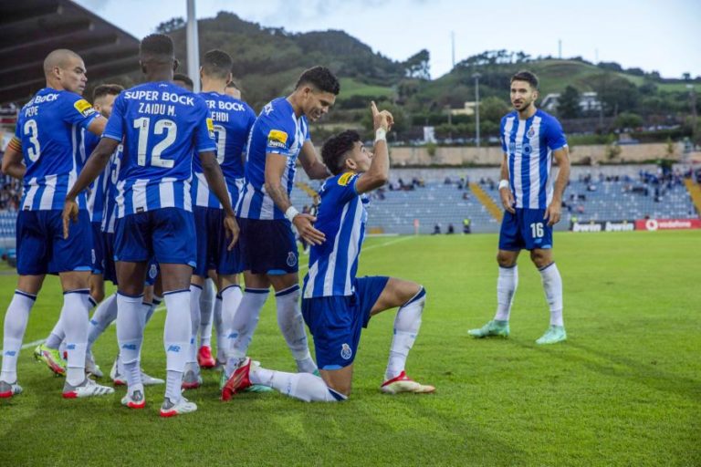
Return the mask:
POLYGON ((358 175, 346 172, 331 177, 321 186, 317 222, 314 227, 326 235, 326 242, 311 245, 309 273, 304 278, 302 297, 350 296, 358 272, 358 258, 365 238, 370 198, 355 192, 358 175))

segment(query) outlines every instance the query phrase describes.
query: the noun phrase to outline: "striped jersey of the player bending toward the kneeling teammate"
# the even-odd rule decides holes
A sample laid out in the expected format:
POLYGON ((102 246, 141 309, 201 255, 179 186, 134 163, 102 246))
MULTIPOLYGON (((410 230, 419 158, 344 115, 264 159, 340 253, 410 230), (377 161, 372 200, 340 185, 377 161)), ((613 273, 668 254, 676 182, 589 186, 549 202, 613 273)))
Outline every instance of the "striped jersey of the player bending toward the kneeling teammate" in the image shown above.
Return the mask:
POLYGON ((299 151, 309 140, 307 117, 295 115, 288 99, 269 102, 260 112, 248 136, 246 151, 246 180, 236 206, 236 214, 246 219, 285 219, 265 190, 266 154, 281 154, 288 158, 282 175, 282 186, 289 193, 295 184, 299 151))

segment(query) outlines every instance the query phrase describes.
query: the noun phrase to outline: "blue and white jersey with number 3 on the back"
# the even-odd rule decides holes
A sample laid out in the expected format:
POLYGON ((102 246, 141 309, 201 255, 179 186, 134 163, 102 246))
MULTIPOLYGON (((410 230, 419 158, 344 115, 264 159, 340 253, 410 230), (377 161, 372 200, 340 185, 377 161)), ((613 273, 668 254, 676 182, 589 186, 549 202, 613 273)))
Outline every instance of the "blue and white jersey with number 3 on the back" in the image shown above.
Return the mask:
MULTIPOLYGON (((78 94, 53 88, 41 89, 20 110, 15 136, 22 141, 26 165, 20 209, 63 209, 84 162, 78 150, 80 129, 98 115, 78 94)), ((77 201, 85 209, 84 193, 77 201)))

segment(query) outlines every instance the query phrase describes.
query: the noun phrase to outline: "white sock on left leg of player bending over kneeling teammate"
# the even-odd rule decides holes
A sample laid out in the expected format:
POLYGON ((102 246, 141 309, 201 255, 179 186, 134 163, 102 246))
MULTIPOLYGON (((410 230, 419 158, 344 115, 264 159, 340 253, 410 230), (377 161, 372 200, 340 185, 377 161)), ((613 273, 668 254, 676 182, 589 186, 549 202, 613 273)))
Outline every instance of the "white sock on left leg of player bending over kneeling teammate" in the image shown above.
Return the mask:
POLYGON ((235 311, 229 335, 226 338, 228 342, 228 346, 226 346, 228 348, 226 353, 227 375, 230 375, 238 367, 240 361, 246 358, 246 352, 248 352, 248 346, 251 345, 251 340, 253 340, 253 333, 258 326, 260 310, 266 303, 267 294, 267 288, 246 287, 246 292, 244 292, 244 296, 241 299, 241 305, 235 311))

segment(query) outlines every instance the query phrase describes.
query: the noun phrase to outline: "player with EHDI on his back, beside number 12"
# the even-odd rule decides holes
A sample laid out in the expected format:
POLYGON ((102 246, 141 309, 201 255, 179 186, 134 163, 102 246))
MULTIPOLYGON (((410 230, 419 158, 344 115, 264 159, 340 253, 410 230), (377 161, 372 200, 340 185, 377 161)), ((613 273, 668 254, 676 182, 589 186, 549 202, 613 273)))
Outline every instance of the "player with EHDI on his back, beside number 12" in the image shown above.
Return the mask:
MULTIPOLYGON (((216 161, 219 162, 232 204, 238 201, 238 192, 244 183, 244 154, 248 133, 256 121, 256 114, 248 104, 225 95, 226 84, 231 81, 231 67, 233 60, 221 50, 210 50, 204 54, 200 78, 202 79, 202 92, 204 99, 214 121, 214 135, 216 136, 216 161)), ((202 384, 198 360, 204 361, 204 357, 212 358, 212 354, 203 355, 203 349, 197 351, 197 331, 201 329, 201 304, 200 296, 203 287, 206 287, 205 279, 208 275, 216 277, 217 289, 220 300, 218 307, 217 333, 218 346, 221 348, 226 342, 225 327, 231 324, 236 309, 241 302, 241 286, 238 275, 243 272, 238 245, 232 250, 227 250, 229 242, 225 238, 222 223, 225 212, 222 204, 214 197, 204 178, 202 164, 196 158, 193 160, 193 204, 194 226, 197 236, 197 267, 191 279, 190 296, 192 299, 191 317, 192 347, 190 358, 185 367, 183 388, 194 389, 202 384), (210 274, 212 273, 212 274, 210 274)), ((204 310, 203 310, 204 311, 204 310)), ((204 315, 204 313, 203 313, 204 315)), ((209 315, 211 319, 211 315, 209 315)), ((206 329, 203 333, 211 333, 206 329)), ((209 349, 209 348, 207 348, 209 349)))

